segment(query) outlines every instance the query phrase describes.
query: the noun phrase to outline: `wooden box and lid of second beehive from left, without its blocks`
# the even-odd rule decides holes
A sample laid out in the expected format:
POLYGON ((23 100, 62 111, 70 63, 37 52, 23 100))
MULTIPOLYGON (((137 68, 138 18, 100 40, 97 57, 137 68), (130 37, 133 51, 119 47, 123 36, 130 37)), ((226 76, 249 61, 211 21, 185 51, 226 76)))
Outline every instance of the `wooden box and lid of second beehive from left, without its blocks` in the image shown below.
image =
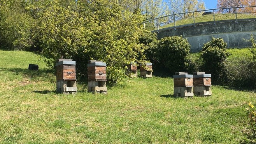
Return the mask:
POLYGON ((89 81, 107 81, 105 62, 93 62, 87 64, 88 82, 89 81))

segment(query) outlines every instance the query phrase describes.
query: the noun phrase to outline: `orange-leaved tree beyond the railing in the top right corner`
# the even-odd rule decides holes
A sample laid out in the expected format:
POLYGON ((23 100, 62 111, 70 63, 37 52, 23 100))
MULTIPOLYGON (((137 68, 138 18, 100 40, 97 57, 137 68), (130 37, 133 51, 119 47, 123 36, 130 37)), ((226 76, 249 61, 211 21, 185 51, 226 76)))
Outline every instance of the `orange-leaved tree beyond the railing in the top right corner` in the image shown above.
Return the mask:
MULTIPOLYGON (((226 7, 243 7, 256 5, 255 0, 218 0, 217 8, 226 8, 226 7)), ((235 13, 236 9, 221 9, 222 13, 235 13)), ((237 9, 238 13, 254 13, 256 12, 255 7, 249 8, 239 8, 237 9)))

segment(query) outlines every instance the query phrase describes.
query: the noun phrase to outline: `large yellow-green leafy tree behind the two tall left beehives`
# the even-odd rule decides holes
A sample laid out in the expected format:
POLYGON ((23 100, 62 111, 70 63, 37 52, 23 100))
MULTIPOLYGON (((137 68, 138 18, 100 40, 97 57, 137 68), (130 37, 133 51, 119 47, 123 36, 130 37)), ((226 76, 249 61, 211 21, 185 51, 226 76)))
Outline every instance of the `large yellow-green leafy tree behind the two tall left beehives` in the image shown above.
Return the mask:
POLYGON ((88 60, 102 60, 107 63, 108 82, 120 82, 127 64, 145 58, 146 44, 139 40, 145 33, 141 24, 144 17, 139 11, 132 13, 104 0, 56 0, 37 16, 36 38, 42 54, 74 59, 81 76, 86 76, 88 60))

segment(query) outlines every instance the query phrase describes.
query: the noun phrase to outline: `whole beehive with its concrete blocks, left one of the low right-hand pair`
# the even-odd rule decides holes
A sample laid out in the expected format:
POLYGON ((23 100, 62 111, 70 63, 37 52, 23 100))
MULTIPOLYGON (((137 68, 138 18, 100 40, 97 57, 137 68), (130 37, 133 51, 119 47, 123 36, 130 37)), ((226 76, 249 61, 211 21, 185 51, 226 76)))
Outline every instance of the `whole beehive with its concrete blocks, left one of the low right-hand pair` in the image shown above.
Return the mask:
POLYGON ((174 96, 193 97, 193 75, 177 72, 174 77, 174 96))

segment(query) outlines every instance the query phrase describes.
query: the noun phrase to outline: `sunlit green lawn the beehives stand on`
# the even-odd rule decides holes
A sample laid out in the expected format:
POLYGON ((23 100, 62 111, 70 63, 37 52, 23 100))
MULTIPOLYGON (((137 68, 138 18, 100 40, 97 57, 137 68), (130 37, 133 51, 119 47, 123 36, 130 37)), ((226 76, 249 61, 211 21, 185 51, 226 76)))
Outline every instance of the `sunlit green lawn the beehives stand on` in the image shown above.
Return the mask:
POLYGON ((172 78, 126 78, 108 94, 56 94, 40 57, 0 50, 0 143, 255 142, 245 108, 252 91, 212 86, 212 96, 175 98, 172 78), (38 64, 39 71, 28 70, 38 64))

